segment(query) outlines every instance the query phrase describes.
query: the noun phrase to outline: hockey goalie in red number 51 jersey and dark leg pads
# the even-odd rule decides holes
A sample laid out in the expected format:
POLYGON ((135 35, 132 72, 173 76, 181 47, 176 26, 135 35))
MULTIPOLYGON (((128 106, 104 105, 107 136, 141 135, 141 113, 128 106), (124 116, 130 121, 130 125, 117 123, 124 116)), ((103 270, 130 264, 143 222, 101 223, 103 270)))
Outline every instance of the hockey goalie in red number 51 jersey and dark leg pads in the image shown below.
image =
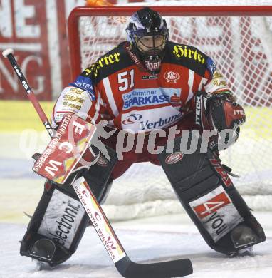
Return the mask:
POLYGON ((140 9, 126 31, 127 41, 86 68, 56 101, 51 120, 57 133, 67 115, 76 115, 100 127, 99 136, 63 186, 46 180, 21 254, 51 266, 66 261, 88 226, 70 187, 75 175, 85 177, 102 204, 112 182, 141 162, 161 165, 209 247, 229 256, 252 254, 266 237, 219 159, 219 150, 239 137, 244 109, 211 58, 169 41, 156 11, 140 9), (56 250, 49 257, 46 240, 56 250))

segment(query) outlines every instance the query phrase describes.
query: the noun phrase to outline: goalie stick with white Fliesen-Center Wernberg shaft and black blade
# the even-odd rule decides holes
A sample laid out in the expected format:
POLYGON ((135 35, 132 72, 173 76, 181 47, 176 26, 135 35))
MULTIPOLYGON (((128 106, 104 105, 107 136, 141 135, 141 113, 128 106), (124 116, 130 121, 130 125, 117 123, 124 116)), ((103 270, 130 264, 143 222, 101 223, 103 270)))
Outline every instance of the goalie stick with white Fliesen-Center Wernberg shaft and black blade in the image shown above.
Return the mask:
MULTIPOLYGON (((31 87, 28 85, 25 76, 21 72, 18 63, 13 55, 13 49, 9 48, 3 51, 3 56, 9 59, 11 66, 14 68, 19 80, 21 81, 23 88, 28 95, 28 99, 33 104, 36 112, 41 118, 43 125, 48 131, 51 138, 55 134, 55 130, 51 127, 46 114, 41 108, 40 103, 34 95, 31 87)), ((110 225, 108 218, 103 212, 102 207, 98 203, 90 190, 88 183, 84 177, 79 177, 72 184, 75 193, 78 195, 78 199, 83 205, 86 213, 88 214, 90 221, 95 227, 95 231, 98 233, 100 240, 103 242, 105 249, 107 250, 110 258, 113 260, 115 267, 123 277, 181 277, 192 274, 192 263, 189 259, 177 259, 169 262, 157 262, 151 264, 137 264, 132 262, 125 253, 125 249, 117 238, 113 227, 110 225)))

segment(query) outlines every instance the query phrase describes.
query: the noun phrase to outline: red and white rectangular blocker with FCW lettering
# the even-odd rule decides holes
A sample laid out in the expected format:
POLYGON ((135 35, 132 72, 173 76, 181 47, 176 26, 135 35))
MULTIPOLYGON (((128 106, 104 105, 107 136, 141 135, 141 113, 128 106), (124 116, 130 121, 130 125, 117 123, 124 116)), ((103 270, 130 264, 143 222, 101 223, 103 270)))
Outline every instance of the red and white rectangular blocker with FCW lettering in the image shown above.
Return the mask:
POLYGON ((90 143, 97 136, 95 125, 68 113, 56 135, 33 165, 33 171, 63 185, 72 173, 88 169, 95 163, 90 143))

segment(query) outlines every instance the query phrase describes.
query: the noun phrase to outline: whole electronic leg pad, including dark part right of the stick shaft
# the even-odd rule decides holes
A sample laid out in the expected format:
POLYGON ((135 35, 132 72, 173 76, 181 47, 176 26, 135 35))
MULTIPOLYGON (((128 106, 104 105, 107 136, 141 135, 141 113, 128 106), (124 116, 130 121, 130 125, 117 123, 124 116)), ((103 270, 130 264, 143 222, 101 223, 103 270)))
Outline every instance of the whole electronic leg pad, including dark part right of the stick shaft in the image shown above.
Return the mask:
MULTIPOLYGON (((108 195, 112 184, 110 174, 117 162, 115 151, 108 148, 108 153, 110 161, 100 155, 97 163, 82 173, 100 203, 108 195)), ((77 249, 88 222, 73 187, 58 186, 47 180, 21 241, 20 254, 48 262, 51 267, 61 264, 77 249)))

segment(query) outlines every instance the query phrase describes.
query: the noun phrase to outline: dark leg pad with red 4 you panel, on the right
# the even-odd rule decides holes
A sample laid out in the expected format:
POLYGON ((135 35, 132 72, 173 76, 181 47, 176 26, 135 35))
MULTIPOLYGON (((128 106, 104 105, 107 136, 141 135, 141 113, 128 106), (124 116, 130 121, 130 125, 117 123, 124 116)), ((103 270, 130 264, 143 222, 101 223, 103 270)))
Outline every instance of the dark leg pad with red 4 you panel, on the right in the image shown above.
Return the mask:
POLYGON ((256 234, 256 242, 249 245, 266 240, 261 225, 251 214, 216 155, 209 149, 201 153, 201 137, 191 135, 192 140, 198 142, 194 153, 180 152, 179 137, 174 140, 173 153, 166 153, 167 148, 164 148, 159 154, 159 161, 206 243, 218 252, 234 254, 243 248, 236 247, 231 240, 231 232, 238 225, 246 225, 256 234))

